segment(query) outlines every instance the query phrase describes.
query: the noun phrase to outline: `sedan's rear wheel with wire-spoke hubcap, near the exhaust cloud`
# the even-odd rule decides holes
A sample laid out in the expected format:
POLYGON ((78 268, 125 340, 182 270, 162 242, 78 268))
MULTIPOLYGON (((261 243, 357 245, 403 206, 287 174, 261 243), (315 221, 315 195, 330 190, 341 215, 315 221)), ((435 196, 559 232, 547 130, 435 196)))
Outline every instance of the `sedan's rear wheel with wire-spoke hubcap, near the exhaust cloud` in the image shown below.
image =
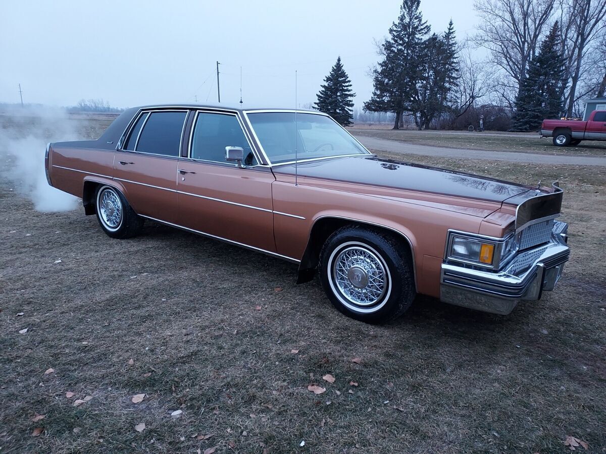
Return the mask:
POLYGON ((99 225, 110 237, 125 239, 141 231, 143 219, 133 211, 118 189, 99 186, 95 200, 99 225))

